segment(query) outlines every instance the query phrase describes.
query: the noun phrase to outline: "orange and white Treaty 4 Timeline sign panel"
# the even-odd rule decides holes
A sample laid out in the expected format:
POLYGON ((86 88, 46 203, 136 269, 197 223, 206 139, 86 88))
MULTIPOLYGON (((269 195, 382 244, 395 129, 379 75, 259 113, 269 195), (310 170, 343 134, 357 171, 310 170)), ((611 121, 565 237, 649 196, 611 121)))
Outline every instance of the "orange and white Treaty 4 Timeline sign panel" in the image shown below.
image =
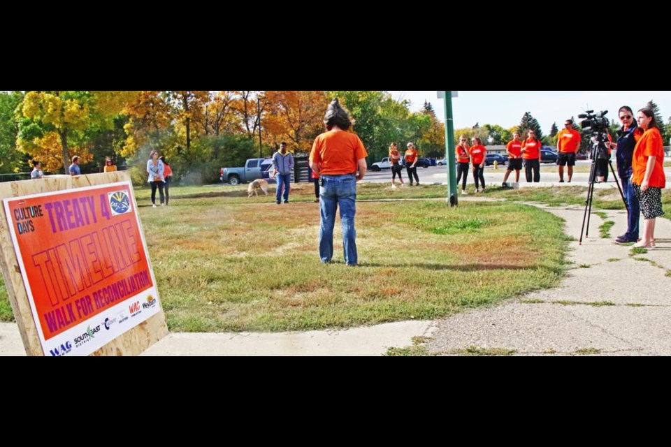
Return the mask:
POLYGON ((160 312, 130 182, 3 202, 45 356, 87 356, 160 312))

